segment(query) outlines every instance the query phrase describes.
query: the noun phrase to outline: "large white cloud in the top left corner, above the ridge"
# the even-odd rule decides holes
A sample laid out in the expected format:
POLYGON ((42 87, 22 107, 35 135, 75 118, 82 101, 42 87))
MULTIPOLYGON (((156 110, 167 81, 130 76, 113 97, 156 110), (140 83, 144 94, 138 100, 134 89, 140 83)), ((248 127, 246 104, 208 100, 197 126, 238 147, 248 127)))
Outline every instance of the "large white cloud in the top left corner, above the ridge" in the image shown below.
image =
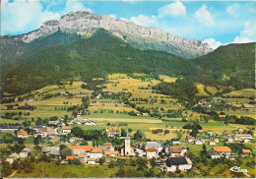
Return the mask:
POLYGON ((3 1, 1 7, 2 33, 21 33, 38 29, 44 21, 59 19, 59 13, 42 10, 39 1, 3 1))

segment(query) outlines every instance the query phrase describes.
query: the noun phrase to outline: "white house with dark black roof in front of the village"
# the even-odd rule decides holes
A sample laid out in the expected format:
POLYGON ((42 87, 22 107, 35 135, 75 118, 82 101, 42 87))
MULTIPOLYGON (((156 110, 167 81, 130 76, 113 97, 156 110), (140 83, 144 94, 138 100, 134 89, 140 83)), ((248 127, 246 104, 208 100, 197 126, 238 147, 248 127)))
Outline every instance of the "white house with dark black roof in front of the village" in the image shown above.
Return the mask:
POLYGON ((164 168, 166 171, 176 171, 177 169, 187 171, 192 168, 192 161, 184 156, 169 157, 166 159, 166 166, 164 168))

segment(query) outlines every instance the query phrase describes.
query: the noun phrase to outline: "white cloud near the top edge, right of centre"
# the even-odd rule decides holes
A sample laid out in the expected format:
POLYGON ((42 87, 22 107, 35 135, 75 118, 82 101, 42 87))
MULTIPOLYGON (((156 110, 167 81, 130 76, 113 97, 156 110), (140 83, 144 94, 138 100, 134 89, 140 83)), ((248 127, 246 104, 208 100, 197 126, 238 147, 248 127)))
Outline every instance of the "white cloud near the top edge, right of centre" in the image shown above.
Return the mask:
POLYGON ((175 2, 165 5, 159 9, 159 17, 161 18, 164 16, 186 17, 186 7, 179 0, 176 0, 175 2))

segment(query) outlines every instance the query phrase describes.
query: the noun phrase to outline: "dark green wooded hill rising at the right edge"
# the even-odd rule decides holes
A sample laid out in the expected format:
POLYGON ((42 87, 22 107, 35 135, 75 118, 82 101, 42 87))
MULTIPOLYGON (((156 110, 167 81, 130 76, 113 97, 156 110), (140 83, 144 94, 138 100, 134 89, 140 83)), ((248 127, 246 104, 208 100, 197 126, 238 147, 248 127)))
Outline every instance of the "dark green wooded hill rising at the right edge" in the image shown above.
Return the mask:
POLYGON ((191 76, 206 85, 255 88, 255 44, 228 44, 198 57, 191 76))

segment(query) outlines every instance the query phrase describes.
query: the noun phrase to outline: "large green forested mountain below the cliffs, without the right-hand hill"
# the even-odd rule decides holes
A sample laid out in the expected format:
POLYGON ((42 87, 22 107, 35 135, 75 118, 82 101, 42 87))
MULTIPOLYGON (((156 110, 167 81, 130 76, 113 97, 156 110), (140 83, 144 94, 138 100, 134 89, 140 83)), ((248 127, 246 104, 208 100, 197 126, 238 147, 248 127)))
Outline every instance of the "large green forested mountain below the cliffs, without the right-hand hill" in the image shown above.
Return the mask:
POLYGON ((176 55, 134 48, 107 30, 92 30, 91 37, 70 36, 60 44, 65 41, 63 36, 60 30, 51 33, 40 42, 58 39, 59 45, 6 65, 2 71, 3 90, 24 93, 65 79, 104 77, 109 73, 186 76, 191 66, 191 60, 176 55))

